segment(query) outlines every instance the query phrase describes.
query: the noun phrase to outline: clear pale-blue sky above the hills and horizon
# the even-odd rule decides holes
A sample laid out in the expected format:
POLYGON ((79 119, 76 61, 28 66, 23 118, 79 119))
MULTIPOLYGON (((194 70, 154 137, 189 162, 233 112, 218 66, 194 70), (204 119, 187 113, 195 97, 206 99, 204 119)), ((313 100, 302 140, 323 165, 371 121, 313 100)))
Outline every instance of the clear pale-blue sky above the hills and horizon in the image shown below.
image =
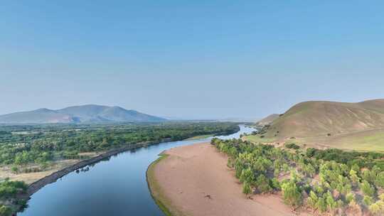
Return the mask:
POLYGON ((384 97, 384 1, 1 1, 0 114, 261 118, 384 97))

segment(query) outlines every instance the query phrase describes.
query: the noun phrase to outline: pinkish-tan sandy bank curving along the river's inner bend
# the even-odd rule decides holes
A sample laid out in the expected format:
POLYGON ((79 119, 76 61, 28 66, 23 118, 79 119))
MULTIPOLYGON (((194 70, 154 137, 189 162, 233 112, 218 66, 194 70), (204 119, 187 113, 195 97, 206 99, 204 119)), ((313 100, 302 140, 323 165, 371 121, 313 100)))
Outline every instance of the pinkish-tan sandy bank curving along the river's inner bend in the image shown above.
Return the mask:
POLYGON ((171 215, 294 215, 277 195, 246 199, 227 157, 210 144, 164 153, 167 156, 149 167, 148 182, 155 200, 171 215))

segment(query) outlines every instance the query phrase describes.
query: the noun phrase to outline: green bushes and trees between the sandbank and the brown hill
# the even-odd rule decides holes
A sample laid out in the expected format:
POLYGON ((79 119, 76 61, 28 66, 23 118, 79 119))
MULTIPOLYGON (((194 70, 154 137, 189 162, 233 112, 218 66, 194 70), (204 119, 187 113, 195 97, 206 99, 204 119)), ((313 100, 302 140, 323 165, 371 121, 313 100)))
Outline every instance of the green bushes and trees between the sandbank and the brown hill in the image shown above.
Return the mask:
POLYGON ((277 148, 240 139, 212 144, 228 154, 246 195, 281 193, 294 210, 319 214, 384 215, 383 153, 277 148))

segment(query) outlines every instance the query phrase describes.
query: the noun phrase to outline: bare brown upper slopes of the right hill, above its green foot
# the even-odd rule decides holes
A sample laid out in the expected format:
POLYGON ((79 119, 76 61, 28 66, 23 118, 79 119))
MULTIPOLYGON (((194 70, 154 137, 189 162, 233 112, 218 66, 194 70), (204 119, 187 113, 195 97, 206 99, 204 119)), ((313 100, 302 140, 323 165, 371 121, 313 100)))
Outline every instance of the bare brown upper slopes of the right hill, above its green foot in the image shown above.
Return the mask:
POLYGON ((384 128, 384 99, 359 103, 310 101, 270 123, 266 136, 313 137, 384 128))

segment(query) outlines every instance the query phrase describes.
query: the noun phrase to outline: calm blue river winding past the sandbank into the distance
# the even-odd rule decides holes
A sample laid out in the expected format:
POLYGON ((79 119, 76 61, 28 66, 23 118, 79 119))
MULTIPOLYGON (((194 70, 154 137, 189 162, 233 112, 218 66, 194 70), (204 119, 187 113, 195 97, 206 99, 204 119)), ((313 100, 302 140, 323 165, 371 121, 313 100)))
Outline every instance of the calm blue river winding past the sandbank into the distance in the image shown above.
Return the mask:
MULTIPOLYGON (((240 134, 253 130, 240 125, 238 133, 219 138, 239 138, 240 134)), ((46 185, 32 195, 29 207, 18 215, 164 215, 149 193, 146 168, 161 151, 210 139, 166 142, 119 153, 109 161, 88 166, 89 171, 69 173, 46 185)))

